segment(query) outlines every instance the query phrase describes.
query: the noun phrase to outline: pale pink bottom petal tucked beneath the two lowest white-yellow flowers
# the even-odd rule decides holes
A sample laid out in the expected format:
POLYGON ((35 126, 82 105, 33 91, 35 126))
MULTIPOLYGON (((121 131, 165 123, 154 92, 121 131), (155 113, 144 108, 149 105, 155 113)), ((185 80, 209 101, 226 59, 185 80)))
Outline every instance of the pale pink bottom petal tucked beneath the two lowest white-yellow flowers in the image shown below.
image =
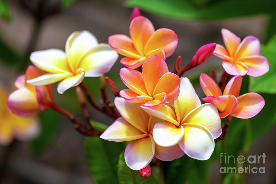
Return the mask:
POLYGON ((171 147, 162 147, 155 144, 155 157, 162 161, 171 161, 178 159, 185 155, 185 153, 180 149, 179 145, 176 144, 171 147))

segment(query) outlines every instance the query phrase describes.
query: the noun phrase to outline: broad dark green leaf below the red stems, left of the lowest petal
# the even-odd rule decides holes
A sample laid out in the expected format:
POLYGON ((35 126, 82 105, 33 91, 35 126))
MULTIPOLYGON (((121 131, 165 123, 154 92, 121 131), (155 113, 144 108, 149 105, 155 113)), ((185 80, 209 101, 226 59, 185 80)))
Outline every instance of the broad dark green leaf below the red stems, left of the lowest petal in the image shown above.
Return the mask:
POLYGON ((99 137, 85 138, 85 156, 93 178, 99 184, 118 184, 117 163, 125 149, 122 142, 112 142, 99 137))

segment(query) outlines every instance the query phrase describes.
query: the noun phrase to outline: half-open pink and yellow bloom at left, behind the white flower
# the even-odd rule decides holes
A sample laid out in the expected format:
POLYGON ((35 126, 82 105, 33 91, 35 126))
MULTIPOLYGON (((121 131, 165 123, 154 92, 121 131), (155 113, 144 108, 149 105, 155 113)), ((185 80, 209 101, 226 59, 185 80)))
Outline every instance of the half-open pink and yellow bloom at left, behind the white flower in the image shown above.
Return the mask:
POLYGON ((44 75, 45 72, 34 66, 29 66, 25 75, 20 75, 14 82, 17 87, 8 98, 10 111, 28 117, 48 109, 54 103, 52 98, 52 85, 33 86, 26 81, 44 75))

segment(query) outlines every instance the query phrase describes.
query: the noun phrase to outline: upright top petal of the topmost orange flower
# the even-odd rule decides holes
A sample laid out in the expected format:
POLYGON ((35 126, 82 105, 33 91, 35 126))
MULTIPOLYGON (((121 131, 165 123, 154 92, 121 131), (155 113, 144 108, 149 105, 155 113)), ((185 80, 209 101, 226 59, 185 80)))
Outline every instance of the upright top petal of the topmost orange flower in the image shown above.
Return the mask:
POLYGON ((146 17, 138 16, 131 21, 129 26, 130 37, 140 55, 144 55, 144 47, 154 31, 151 21, 146 17))

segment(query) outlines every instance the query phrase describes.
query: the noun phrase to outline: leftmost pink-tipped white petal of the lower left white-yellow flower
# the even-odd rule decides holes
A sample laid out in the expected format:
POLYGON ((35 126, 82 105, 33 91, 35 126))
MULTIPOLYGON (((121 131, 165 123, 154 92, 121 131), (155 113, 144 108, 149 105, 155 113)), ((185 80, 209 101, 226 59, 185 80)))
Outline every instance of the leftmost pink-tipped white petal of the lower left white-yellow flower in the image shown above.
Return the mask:
POLYGON ((148 135, 130 125, 123 117, 119 117, 102 133, 100 138, 104 140, 121 142, 141 139, 146 136, 148 135))

